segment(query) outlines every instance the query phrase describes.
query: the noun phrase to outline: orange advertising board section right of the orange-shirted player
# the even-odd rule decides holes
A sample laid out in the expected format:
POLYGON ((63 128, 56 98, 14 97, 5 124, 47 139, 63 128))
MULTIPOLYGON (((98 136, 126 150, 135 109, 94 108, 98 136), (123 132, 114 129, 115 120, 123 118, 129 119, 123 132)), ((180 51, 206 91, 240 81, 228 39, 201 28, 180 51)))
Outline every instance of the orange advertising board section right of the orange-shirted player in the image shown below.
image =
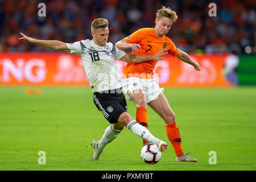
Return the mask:
MULTIPOLYGON (((156 64, 159 85, 162 86, 231 86, 224 75, 228 55, 190 55, 200 65, 201 71, 177 57, 167 56, 156 64)), ((155 79, 157 80, 157 79, 155 79)))

